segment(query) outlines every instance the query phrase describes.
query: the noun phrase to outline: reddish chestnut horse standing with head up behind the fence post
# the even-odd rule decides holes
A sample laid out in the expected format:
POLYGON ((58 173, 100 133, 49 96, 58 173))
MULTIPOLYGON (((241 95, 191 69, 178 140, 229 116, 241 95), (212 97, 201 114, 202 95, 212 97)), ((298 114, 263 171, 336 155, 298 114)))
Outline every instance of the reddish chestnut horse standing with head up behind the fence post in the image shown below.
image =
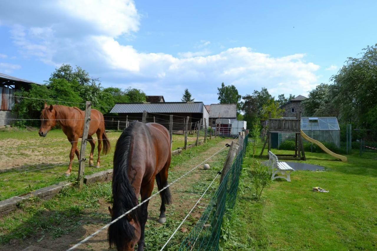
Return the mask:
MULTIPOLYGON (((77 107, 68 107, 61 105, 47 106, 44 103, 44 109, 41 114, 41 127, 39 129, 39 136, 46 137, 49 130, 51 130, 56 123, 60 124, 61 129, 67 136, 68 141, 71 142, 72 148, 69 154, 69 166, 65 172, 66 176, 70 175, 72 170, 72 163, 75 157, 80 158, 79 150, 77 148, 78 138, 82 138, 84 130, 85 112, 77 107)), ((89 166, 94 166, 93 152, 95 147, 95 140, 92 135, 96 133, 98 139, 98 158, 96 167, 100 167, 100 153, 106 154, 110 150, 110 141, 105 133, 105 121, 103 114, 96 109, 90 110, 90 124, 88 132, 88 141, 92 149, 90 150, 89 166), (103 149, 102 149, 103 143, 103 149)))

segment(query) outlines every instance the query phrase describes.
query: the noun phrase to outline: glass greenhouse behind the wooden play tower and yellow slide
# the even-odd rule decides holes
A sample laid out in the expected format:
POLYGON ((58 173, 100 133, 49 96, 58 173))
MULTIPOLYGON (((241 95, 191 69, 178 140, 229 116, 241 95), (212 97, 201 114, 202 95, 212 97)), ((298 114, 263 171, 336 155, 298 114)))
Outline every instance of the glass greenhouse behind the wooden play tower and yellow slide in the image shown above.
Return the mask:
MULTIPOLYGON (((332 142, 340 147, 340 129, 336 117, 301 117, 301 130, 312 139, 332 142)), ((294 133, 279 133, 279 142, 294 139, 294 133)), ((273 136, 271 135, 271 138, 273 136)), ((305 141, 303 139, 303 141, 305 141)))

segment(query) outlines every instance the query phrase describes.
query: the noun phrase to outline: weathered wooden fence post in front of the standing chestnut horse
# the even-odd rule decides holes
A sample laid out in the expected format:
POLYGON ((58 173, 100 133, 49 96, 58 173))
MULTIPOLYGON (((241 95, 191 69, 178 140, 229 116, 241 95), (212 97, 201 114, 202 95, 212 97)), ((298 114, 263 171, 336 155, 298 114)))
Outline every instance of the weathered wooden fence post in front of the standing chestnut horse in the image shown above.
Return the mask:
POLYGON ((84 119, 84 131, 83 138, 81 139, 80 147, 80 160, 78 162, 78 187, 83 188, 84 185, 84 170, 85 170, 85 149, 86 142, 88 140, 89 124, 90 124, 90 109, 92 108, 92 102, 86 101, 85 106, 85 119, 84 119))

